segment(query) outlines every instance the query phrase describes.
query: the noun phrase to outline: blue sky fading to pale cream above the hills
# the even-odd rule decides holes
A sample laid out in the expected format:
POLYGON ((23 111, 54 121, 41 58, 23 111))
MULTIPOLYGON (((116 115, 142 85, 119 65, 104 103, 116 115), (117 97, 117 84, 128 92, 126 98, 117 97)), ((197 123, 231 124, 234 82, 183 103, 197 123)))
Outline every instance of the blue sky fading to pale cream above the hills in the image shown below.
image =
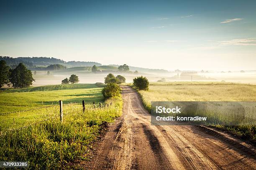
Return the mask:
POLYGON ((256 70, 256 1, 0 0, 0 55, 256 70))

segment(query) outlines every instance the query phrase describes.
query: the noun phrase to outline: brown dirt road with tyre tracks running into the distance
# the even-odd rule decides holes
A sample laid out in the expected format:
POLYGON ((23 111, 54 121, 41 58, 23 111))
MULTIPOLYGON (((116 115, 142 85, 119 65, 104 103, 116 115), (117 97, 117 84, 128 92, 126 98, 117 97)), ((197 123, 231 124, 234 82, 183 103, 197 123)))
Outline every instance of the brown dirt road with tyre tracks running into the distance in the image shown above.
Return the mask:
POLYGON ((131 87, 122 86, 123 115, 96 143, 85 169, 256 169, 255 151, 235 147, 197 126, 151 125, 150 114, 131 87))

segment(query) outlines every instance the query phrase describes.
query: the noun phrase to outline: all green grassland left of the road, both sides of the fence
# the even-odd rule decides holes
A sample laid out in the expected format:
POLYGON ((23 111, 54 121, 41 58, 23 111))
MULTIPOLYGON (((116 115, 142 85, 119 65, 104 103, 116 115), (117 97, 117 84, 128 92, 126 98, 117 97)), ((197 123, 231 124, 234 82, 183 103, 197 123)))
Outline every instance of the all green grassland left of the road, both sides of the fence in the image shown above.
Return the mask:
POLYGON ((87 159, 102 129, 122 113, 122 99, 104 101, 101 90, 77 84, 1 91, 0 160, 29 161, 28 169, 70 169, 70 162, 87 159), (59 100, 64 103, 63 122, 59 100))

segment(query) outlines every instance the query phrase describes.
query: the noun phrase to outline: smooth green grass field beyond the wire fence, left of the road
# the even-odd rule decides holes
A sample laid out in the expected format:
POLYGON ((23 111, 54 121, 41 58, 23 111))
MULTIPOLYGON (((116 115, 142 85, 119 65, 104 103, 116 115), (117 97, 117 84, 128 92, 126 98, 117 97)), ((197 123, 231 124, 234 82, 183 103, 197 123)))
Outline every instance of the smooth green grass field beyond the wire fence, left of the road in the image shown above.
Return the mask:
POLYGON ((102 88, 95 84, 46 85, 23 89, 9 89, 0 92, 0 113, 76 102, 102 102, 102 88))

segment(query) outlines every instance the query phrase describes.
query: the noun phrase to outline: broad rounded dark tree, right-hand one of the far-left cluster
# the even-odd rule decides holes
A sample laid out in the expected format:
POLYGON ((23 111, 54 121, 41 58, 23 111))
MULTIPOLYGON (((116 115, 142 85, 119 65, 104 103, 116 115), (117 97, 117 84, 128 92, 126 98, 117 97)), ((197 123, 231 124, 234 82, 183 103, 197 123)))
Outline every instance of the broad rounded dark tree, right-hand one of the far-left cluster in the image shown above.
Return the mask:
POLYGON ((33 75, 31 70, 20 63, 15 69, 11 70, 10 82, 13 84, 13 88, 24 88, 32 85, 33 75))

